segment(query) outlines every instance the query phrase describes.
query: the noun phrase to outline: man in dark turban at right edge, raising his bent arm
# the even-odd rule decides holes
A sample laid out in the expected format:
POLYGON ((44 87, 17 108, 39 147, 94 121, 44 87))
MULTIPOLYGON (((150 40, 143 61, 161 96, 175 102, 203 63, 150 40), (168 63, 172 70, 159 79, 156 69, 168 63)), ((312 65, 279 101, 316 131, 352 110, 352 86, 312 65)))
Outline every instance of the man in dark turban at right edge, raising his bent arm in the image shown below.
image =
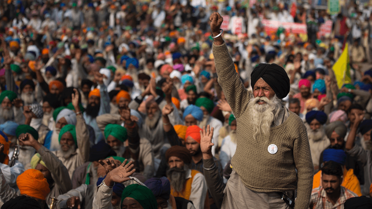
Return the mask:
POLYGON ((371 130, 372 120, 363 120, 364 115, 355 114, 355 122, 350 129, 346 141, 346 151, 350 156, 357 157, 358 161, 364 165, 364 186, 362 188, 363 195, 369 195, 369 186, 372 183, 372 146, 371 146, 371 130), (360 126, 359 126, 360 124, 360 126), (355 143, 357 130, 359 127, 360 144, 355 143))

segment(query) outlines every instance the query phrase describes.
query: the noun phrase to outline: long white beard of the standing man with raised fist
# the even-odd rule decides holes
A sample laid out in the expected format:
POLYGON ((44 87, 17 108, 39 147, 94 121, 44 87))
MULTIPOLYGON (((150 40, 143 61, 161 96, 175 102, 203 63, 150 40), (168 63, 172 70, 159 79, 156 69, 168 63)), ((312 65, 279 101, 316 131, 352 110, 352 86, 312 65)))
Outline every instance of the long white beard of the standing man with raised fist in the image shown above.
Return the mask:
POLYGON ((271 99, 267 97, 255 97, 248 103, 248 123, 253 129, 253 138, 257 136, 270 136, 270 128, 273 121, 278 118, 282 101, 275 95, 271 99), (257 104, 259 101, 266 102, 263 105, 257 104))

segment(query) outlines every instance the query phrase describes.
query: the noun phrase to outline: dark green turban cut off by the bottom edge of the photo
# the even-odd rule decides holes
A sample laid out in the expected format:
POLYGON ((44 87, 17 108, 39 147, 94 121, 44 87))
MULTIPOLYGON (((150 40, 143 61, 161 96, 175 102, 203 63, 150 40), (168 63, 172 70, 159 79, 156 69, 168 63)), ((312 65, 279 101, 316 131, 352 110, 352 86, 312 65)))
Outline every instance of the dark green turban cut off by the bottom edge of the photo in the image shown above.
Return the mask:
POLYGON ((154 193, 145 186, 140 184, 131 184, 126 186, 121 195, 120 206, 123 205, 123 201, 126 197, 131 197, 137 200, 143 208, 146 209, 157 209, 158 203, 154 193))

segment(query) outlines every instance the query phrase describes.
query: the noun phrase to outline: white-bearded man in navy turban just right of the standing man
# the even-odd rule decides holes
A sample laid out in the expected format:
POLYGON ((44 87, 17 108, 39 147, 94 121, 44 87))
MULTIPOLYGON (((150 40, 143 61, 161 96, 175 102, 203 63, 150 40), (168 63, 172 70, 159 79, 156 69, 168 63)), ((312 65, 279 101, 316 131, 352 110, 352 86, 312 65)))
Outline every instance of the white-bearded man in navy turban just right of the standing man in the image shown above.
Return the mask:
POLYGON ((312 164, 314 170, 319 170, 319 158, 321 152, 330 145, 330 141, 324 131, 327 115, 322 111, 312 110, 306 114, 306 129, 309 139, 312 164))

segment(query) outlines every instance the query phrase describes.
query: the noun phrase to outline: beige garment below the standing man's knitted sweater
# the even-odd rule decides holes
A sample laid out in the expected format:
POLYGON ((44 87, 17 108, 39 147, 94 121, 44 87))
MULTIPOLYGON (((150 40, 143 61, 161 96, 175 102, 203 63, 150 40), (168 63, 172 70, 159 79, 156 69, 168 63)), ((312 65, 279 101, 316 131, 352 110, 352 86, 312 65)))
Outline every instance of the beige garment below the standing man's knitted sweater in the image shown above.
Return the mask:
MULTIPOLYGON (((234 169, 224 193, 221 209, 290 209, 276 192, 254 192, 248 189, 234 169)), ((287 191, 285 194, 292 197, 293 191, 287 191)))

